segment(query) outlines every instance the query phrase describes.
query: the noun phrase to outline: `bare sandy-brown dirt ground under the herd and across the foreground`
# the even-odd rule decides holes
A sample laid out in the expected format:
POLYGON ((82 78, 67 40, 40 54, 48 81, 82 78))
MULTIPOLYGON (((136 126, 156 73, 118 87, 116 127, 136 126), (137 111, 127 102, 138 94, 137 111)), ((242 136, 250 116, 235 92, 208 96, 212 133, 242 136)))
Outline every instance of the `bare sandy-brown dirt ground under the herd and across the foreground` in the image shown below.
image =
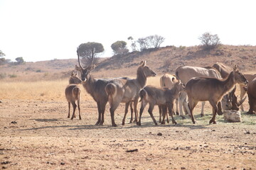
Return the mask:
POLYGON ((129 124, 129 115, 122 126, 122 104, 113 128, 109 106, 105 125, 95 125, 95 102, 81 104, 82 120, 70 120, 65 101, 2 100, 0 168, 256 169, 255 123, 218 116, 217 125, 208 125, 210 114, 204 120, 197 112, 196 125, 176 115, 178 125, 156 126, 144 111, 141 127, 129 124))

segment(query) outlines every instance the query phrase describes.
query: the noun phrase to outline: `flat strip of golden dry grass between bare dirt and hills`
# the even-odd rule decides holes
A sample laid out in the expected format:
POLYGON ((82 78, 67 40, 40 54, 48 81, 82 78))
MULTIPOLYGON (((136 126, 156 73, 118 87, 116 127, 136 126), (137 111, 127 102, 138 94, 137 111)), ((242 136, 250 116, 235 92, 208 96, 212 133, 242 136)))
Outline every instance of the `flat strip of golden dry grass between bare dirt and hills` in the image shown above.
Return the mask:
MULTIPOLYGON (((147 84, 159 86, 159 77, 151 77, 147 84)), ((65 87, 68 85, 68 80, 53 80, 53 81, 1 81, 0 99, 25 99, 25 100, 65 100, 65 87)), ((90 95, 86 93, 82 85, 82 99, 91 100, 90 95)))

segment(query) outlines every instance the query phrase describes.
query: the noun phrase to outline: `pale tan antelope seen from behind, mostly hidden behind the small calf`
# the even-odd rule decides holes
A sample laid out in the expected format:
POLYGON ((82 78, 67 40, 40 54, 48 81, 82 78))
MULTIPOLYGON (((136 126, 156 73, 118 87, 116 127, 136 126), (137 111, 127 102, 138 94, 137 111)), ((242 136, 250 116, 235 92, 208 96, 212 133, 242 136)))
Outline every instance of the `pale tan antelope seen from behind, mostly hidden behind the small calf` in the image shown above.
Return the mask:
MULTIPOLYGON (((160 77, 160 86, 171 89, 178 80, 174 75, 164 74, 160 77)), ((159 106, 159 123, 161 123, 162 108, 159 106)), ((176 114, 178 114, 178 98, 176 98, 176 114)), ((166 114, 167 123, 169 123, 168 114, 166 114)))

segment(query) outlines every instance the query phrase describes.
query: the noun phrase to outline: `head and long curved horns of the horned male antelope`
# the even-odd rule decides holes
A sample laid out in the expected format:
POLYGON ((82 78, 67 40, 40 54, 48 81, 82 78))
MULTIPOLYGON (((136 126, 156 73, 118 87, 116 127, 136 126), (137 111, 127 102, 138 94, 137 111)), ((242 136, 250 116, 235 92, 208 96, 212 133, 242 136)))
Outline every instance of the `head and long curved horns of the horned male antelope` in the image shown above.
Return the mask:
POLYGON ((92 59, 91 59, 89 66, 87 66, 86 68, 83 68, 82 64, 80 62, 79 47, 78 47, 77 53, 78 53, 78 64, 79 65, 76 64, 75 69, 78 70, 79 72, 81 72, 81 79, 83 82, 85 82, 88 79, 90 79, 90 72, 93 69, 95 69, 95 64, 93 64, 93 55, 92 55, 92 59))

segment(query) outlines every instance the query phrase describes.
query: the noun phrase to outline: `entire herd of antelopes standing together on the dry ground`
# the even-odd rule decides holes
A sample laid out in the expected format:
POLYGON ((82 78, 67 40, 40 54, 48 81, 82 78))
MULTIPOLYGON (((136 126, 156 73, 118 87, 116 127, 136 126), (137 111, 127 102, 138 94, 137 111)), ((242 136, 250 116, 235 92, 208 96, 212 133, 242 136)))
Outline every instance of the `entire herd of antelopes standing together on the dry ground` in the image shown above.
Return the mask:
POLYGON ((146 61, 142 61, 137 68, 136 79, 128 77, 118 77, 113 79, 95 79, 90 72, 95 69, 94 58, 86 67, 82 67, 80 62, 79 47, 77 50, 78 64, 75 69, 80 72, 81 79, 78 73, 72 72, 69 85, 65 89, 65 96, 68 101, 68 118, 70 118, 70 103, 73 105, 73 115, 75 118, 75 109, 78 103, 79 118, 80 115, 80 88, 78 84, 82 84, 88 94, 97 103, 98 119, 96 125, 103 125, 105 107, 107 102, 110 103, 110 115, 112 126, 116 127, 114 122, 114 111, 119 106, 119 103, 125 103, 124 118, 122 125, 125 124, 125 118, 128 113, 128 108, 131 108, 131 120, 137 125, 141 125, 142 113, 145 106, 149 103, 149 115, 154 124, 157 125, 156 119, 152 113, 154 106, 159 106, 159 123, 165 124, 165 118, 169 123, 167 112, 171 116, 172 123, 174 120, 174 102, 176 101, 176 114, 183 115, 183 110, 191 116, 192 123, 196 123, 193 116, 193 109, 198 101, 202 101, 201 116, 204 115, 203 106, 206 101, 209 101, 213 107, 213 117, 209 123, 215 124, 216 113, 223 114, 223 110, 237 110, 238 107, 244 111, 242 102, 245 101, 245 94, 249 100, 250 110, 248 113, 255 114, 256 110, 256 74, 242 74, 239 72, 238 65, 232 68, 225 66, 222 63, 215 63, 212 67, 177 67, 175 75, 164 74, 160 78, 160 86, 146 86, 147 77, 156 77, 156 73, 146 65, 146 61), (235 85, 240 85, 240 101, 235 96, 235 85), (138 110, 137 105, 141 101, 141 108, 138 110), (133 107, 132 108, 132 104, 133 107), (162 117, 162 118, 161 118, 162 117))

